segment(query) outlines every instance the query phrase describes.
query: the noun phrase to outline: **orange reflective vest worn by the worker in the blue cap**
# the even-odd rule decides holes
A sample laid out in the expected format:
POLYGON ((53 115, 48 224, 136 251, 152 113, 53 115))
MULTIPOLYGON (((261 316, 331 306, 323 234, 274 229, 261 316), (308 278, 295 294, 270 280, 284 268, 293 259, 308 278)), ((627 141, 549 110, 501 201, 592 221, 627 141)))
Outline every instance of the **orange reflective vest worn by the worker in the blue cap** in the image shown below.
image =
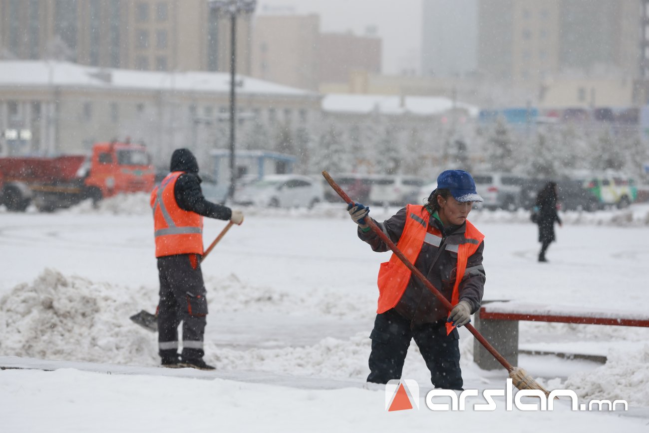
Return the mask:
MULTIPOLYGON (((404 226, 401 238, 398 240, 398 248, 408 258, 411 264, 415 264, 417 261, 426 236, 435 237, 434 234, 428 233, 430 213, 428 210, 424 212, 422 210, 424 210, 424 206, 418 204, 408 204, 406 206, 406 225, 404 226)), ((478 250, 480 243, 484 240, 484 234, 480 233, 469 221, 466 222, 464 237, 465 241, 460 245, 447 245, 447 249, 458 253, 455 284, 450 299, 450 303, 453 306, 459 302, 459 283, 467 269, 467 261, 478 250), (457 251, 455 247, 457 247, 457 251)), ((441 238, 439 238, 437 245, 439 243, 441 243, 441 238)), ((379 294, 376 312, 378 314, 384 313, 398 304, 406 291, 411 273, 412 271, 394 253, 390 257, 389 262, 381 264, 377 281, 379 294)), ((452 328, 453 326, 447 323, 448 333, 450 333, 452 328)))

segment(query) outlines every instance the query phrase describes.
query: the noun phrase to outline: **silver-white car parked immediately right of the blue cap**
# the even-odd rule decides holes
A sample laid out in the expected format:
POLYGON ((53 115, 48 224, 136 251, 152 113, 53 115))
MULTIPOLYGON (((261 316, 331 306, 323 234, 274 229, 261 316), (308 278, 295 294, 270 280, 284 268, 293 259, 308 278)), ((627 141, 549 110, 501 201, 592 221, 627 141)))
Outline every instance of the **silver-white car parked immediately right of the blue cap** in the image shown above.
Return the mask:
POLYGON ((522 206, 520 192, 526 177, 510 173, 476 173, 473 180, 485 208, 515 210, 522 206))

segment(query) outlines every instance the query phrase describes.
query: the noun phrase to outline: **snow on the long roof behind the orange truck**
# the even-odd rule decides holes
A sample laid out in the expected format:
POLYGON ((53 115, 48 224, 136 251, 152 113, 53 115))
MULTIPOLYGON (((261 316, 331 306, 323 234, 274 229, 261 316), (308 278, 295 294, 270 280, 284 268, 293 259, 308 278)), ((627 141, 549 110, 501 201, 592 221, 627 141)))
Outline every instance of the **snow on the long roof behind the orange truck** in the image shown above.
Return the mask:
MULTIPOLYGON (((238 93, 315 96, 317 93, 237 75, 238 93)), ((69 62, 0 60, 0 86, 73 86, 180 92, 230 92, 225 72, 135 71, 84 66, 69 62)))

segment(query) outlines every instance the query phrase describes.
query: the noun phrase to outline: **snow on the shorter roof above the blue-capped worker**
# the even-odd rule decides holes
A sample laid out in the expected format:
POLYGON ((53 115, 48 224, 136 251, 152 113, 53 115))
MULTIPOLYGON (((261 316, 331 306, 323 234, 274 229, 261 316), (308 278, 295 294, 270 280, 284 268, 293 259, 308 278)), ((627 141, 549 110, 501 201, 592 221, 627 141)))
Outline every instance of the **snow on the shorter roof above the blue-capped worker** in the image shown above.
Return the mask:
MULTIPOLYGON (((465 109, 470 116, 478 116, 480 108, 466 103, 456 102, 456 108, 465 109)), ((453 108, 453 100, 439 96, 400 96, 400 95, 352 95, 331 93, 322 101, 325 112, 367 114, 416 114, 430 116, 443 114, 453 108)))

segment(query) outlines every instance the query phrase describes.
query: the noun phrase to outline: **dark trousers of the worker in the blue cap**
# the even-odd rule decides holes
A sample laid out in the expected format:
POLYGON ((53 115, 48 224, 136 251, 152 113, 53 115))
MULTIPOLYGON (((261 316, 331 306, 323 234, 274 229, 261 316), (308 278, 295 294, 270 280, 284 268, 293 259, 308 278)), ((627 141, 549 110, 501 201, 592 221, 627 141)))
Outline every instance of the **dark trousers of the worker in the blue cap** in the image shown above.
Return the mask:
POLYGON ((445 320, 441 320, 411 327, 411 322, 394 309, 377 314, 370 335, 371 373, 367 382, 386 384, 389 380, 400 379, 410 340, 414 338, 435 388, 462 390, 458 330, 454 329, 447 335, 445 323, 445 320))

